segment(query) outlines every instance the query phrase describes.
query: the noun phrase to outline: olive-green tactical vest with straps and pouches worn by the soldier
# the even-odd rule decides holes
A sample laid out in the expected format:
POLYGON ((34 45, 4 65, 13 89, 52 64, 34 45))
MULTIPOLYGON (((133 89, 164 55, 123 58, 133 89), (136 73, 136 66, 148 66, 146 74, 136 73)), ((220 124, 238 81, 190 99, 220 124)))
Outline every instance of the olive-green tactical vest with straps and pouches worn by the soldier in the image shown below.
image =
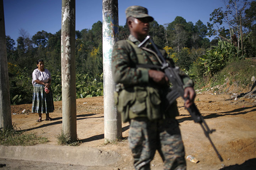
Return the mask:
MULTIPOLYGON (((137 55, 138 63, 136 64, 145 64, 145 52, 143 49, 139 48, 130 40, 126 41, 132 46, 137 55)), ((149 51, 154 53, 154 51, 149 51)), ((156 54, 154 53, 154 55, 156 54)), ((149 120, 156 120, 165 119, 167 117, 174 118, 177 116, 178 111, 176 102, 174 102, 170 107, 176 109, 166 111, 166 106, 164 106, 165 104, 162 101, 162 93, 162 89, 155 88, 150 85, 136 85, 132 87, 117 88, 114 93, 114 98, 117 111, 122 114, 122 121, 127 122, 130 119, 139 117, 147 117, 149 120)))

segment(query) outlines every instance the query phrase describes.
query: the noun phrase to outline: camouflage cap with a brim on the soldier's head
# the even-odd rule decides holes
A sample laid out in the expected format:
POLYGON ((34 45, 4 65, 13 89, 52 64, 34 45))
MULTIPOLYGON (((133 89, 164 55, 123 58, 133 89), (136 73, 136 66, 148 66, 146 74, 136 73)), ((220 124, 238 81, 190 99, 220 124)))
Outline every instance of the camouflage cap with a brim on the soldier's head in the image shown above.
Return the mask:
POLYGON ((126 19, 128 17, 134 18, 145 18, 149 17, 150 21, 153 21, 154 18, 148 15, 148 9, 142 6, 129 6, 126 8, 126 19))

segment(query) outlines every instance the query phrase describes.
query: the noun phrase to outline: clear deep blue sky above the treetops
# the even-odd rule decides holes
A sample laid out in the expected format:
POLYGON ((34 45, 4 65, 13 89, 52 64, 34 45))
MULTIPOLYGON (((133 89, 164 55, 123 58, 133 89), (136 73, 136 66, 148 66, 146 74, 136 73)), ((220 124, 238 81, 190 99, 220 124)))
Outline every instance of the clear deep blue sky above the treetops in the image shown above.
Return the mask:
MULTIPOLYGON (((55 34, 61 29, 62 0, 3 0, 5 32, 16 41, 19 29, 32 36, 38 31, 55 34)), ((199 19, 207 25, 215 8, 224 6, 222 0, 119 0, 119 25, 126 22, 125 9, 140 5, 148 8, 149 15, 161 25, 181 16, 195 24, 199 19)), ((76 0, 76 30, 91 29, 102 22, 102 0, 76 0)), ((212 39, 212 38, 210 38, 212 39)))

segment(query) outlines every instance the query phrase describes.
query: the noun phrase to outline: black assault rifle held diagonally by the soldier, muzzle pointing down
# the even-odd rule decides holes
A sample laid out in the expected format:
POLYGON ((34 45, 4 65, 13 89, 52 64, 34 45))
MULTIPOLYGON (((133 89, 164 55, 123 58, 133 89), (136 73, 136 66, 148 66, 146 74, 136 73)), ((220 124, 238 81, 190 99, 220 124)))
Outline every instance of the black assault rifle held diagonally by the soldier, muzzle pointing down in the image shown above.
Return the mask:
MULTIPOLYGON (((161 63, 161 69, 165 72, 166 77, 172 83, 171 91, 166 95, 167 101, 169 104, 173 103, 177 97, 181 96, 184 100, 188 100, 184 98, 184 89, 183 89, 183 82, 180 78, 179 67, 170 67, 169 64, 166 62, 165 58, 162 56, 161 52, 159 51, 158 47, 156 47, 154 41, 150 38, 150 36, 146 36, 146 38, 138 45, 138 47, 143 49, 143 45, 146 41, 151 43, 153 46, 156 55, 159 57, 158 60, 161 63)), ((210 130, 208 125, 203 119, 203 116, 198 111, 196 105, 193 103, 189 108, 186 108, 190 113, 191 117, 193 118, 195 123, 199 123, 204 131, 204 134, 209 139, 214 151, 217 153, 218 158, 220 161, 223 161, 222 157, 220 156, 219 152, 217 151, 216 147, 214 146, 212 140, 210 139, 209 134, 215 131, 215 129, 210 130)))

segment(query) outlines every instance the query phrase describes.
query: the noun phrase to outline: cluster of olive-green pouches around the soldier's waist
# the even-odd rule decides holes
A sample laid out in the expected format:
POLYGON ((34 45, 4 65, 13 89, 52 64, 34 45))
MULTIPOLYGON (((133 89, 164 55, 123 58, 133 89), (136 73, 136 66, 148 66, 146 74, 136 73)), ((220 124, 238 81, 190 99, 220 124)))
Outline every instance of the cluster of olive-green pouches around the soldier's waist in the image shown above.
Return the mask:
POLYGON ((137 117, 149 120, 161 119, 161 98, 153 87, 134 86, 114 92, 118 113, 122 121, 127 122, 137 117))

